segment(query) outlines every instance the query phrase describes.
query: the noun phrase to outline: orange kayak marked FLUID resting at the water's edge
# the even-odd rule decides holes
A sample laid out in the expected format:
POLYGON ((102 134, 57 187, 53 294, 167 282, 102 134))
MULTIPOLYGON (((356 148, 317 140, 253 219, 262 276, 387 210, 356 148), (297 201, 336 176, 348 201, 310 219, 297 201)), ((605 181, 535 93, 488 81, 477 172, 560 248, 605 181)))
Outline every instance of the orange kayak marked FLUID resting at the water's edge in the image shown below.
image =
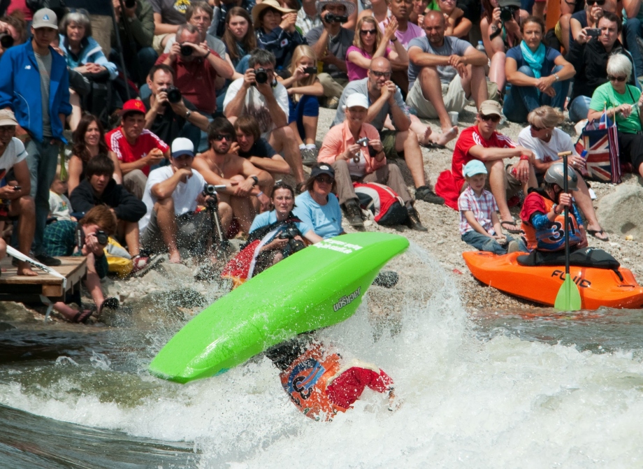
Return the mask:
MULTIPOLYGON (((524 253, 498 256, 491 252, 463 252, 462 257, 474 277, 505 293, 553 306, 565 279, 565 267, 526 267, 516 258, 524 253)), ((643 287, 626 268, 614 270, 570 266, 570 275, 578 285, 584 310, 608 308, 641 308, 643 287)))

